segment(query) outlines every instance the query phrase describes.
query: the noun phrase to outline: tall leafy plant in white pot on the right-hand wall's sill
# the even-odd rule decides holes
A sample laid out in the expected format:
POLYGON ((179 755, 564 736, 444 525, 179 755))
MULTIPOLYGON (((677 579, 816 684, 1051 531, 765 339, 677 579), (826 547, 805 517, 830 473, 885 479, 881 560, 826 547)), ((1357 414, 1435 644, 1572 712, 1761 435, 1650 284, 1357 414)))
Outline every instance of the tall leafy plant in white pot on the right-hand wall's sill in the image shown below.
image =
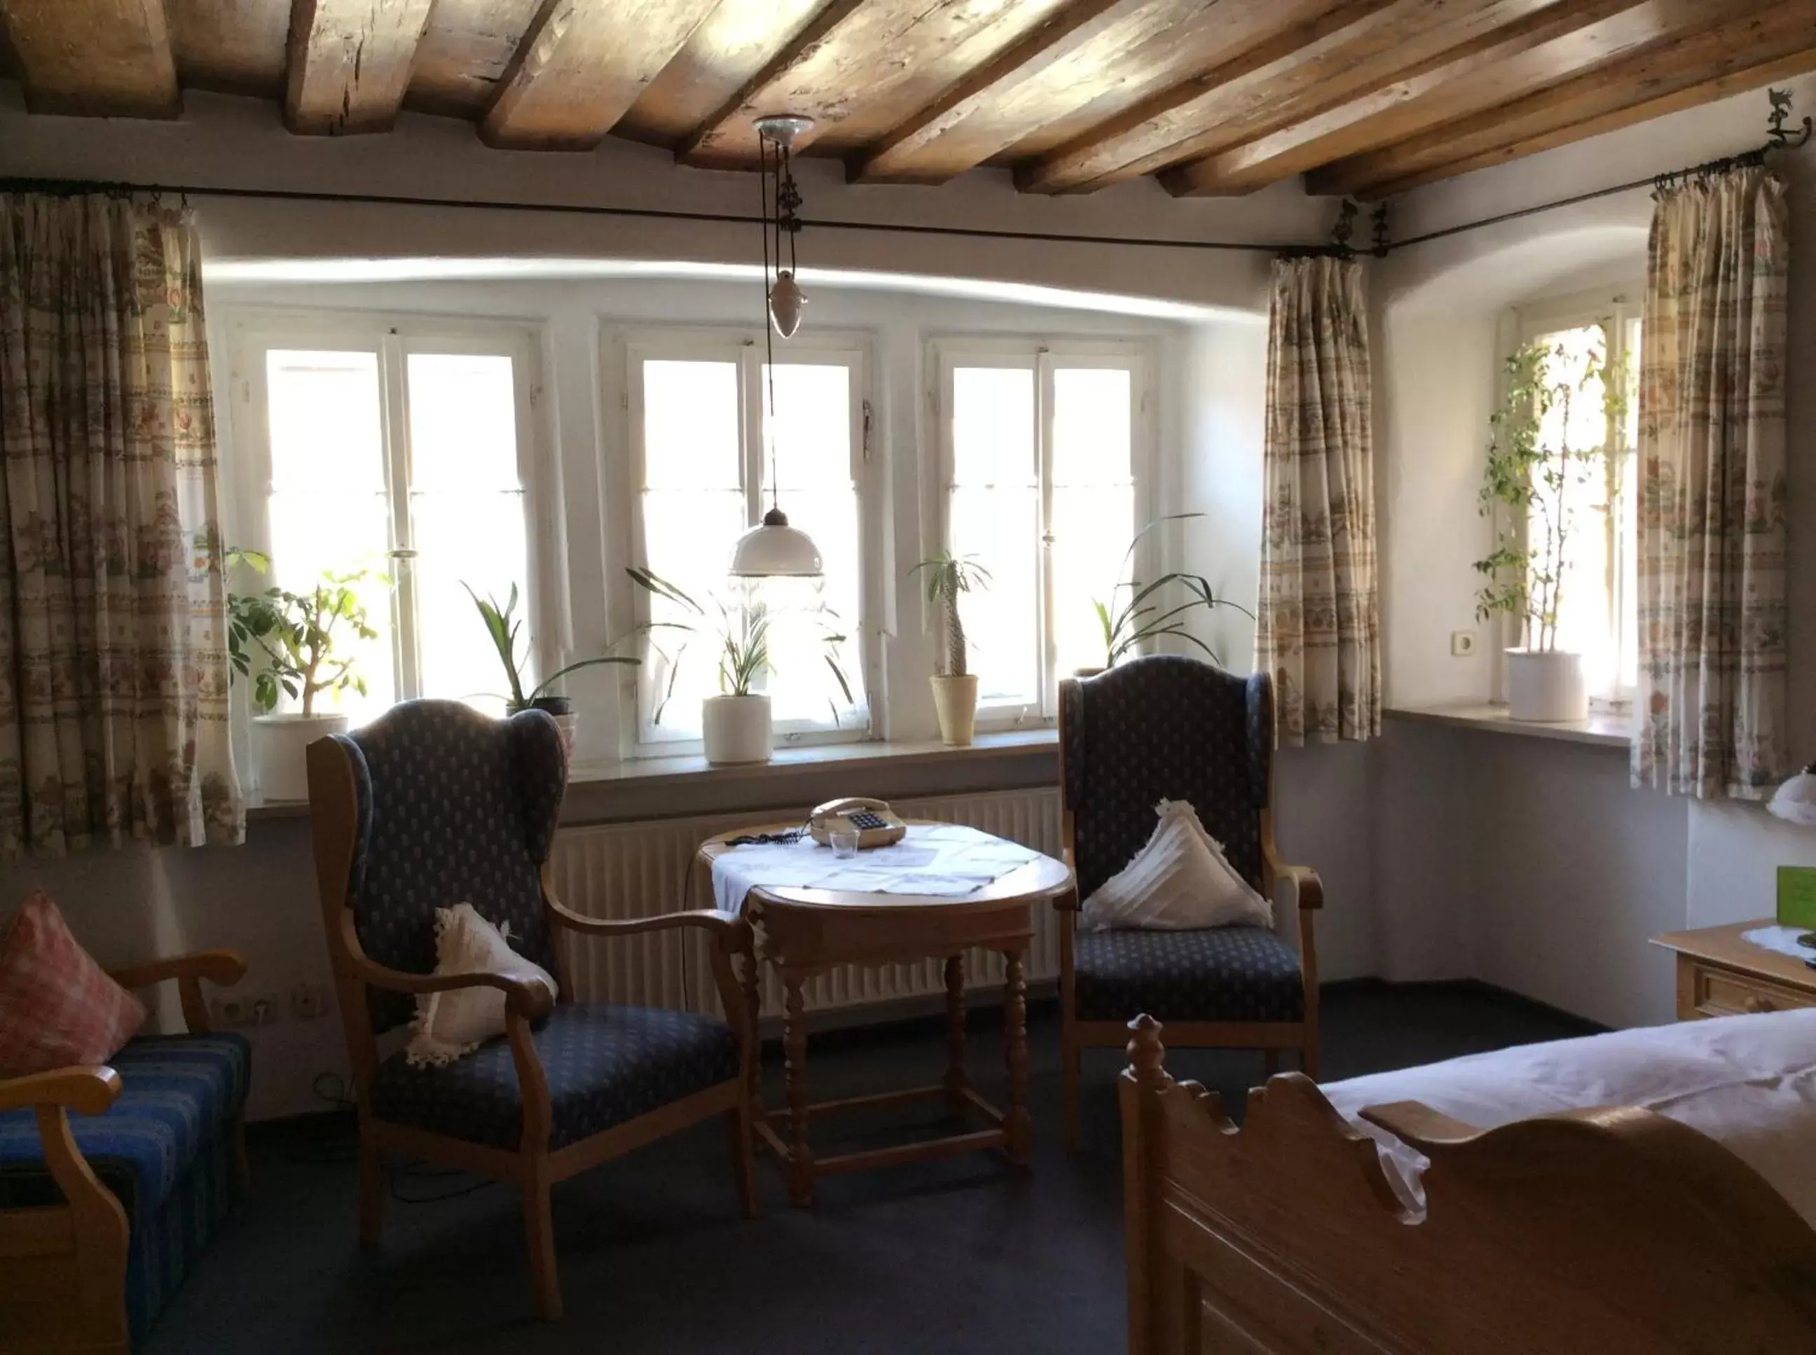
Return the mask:
MULTIPOLYGON (((1558 613, 1569 582, 1569 541, 1576 528, 1573 486, 1604 459, 1604 443, 1571 443, 1571 408, 1594 381, 1618 414, 1616 374, 1591 352, 1580 374, 1565 366, 1562 345, 1535 341, 1505 365, 1507 388, 1489 415, 1493 437, 1482 475, 1480 512, 1502 515, 1495 550, 1475 562, 1487 582, 1476 619, 1513 617, 1520 644, 1507 653, 1507 713, 1515 720, 1558 722, 1589 715, 1582 655, 1558 649, 1558 613)), ((1600 421, 1607 426, 1607 421, 1600 421)))

